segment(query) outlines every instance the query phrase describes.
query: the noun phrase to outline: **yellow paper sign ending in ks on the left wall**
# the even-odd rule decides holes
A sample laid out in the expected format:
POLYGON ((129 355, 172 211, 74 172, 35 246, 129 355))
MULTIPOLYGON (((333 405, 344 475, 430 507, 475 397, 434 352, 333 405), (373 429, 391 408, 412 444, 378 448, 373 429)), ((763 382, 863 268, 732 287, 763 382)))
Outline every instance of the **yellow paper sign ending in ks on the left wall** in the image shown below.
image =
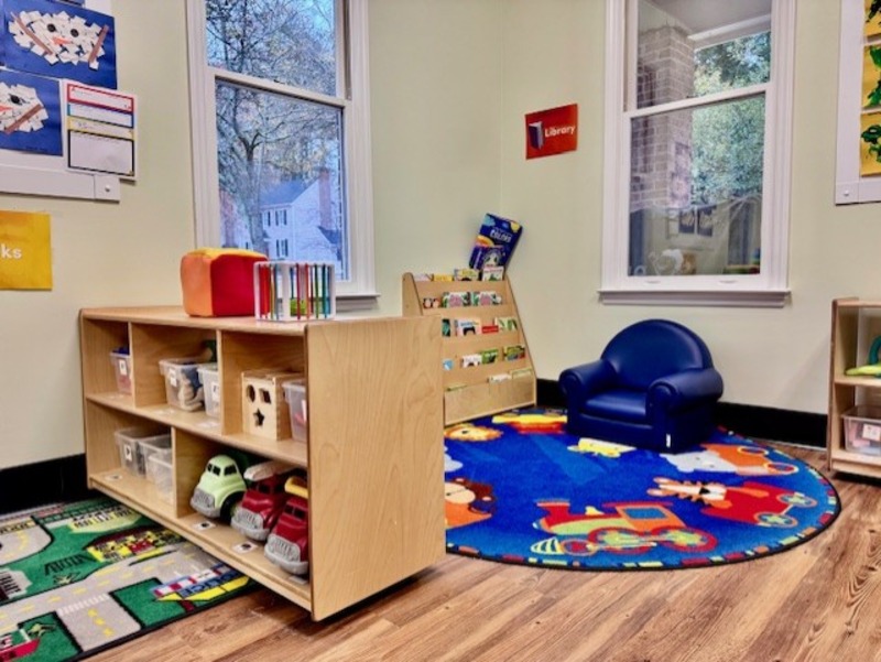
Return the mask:
POLYGON ((0 210, 0 290, 52 290, 48 214, 0 210))

